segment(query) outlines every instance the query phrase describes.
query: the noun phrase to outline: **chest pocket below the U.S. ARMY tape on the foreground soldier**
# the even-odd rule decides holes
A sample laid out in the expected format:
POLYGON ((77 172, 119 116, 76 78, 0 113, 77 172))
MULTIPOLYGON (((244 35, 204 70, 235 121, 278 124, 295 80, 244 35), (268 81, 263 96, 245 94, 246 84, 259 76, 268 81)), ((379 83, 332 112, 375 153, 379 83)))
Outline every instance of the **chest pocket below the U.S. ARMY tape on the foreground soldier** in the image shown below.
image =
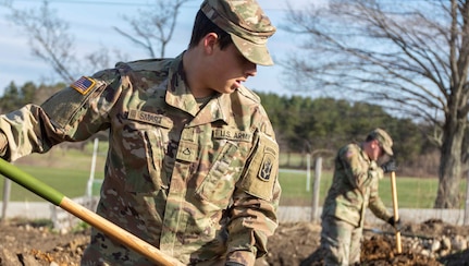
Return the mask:
POLYGON ((231 171, 237 149, 238 146, 234 142, 226 142, 222 147, 207 177, 196 190, 196 195, 200 200, 214 204, 221 209, 230 204, 231 194, 239 178, 236 170, 231 171))

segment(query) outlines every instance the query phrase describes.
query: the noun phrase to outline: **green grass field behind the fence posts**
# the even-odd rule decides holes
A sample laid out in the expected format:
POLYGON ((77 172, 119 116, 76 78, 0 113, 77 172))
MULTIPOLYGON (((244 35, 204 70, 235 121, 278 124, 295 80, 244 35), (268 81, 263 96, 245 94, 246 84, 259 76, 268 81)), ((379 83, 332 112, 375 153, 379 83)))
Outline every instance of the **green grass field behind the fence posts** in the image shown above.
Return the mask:
MULTIPOLYGON (((69 197, 85 195, 89 170, 65 170, 48 167, 18 166, 20 169, 32 174, 38 180, 49 184, 69 197)), ((95 179, 102 179, 103 172, 97 171, 95 179)), ((310 190, 307 191, 306 173, 281 171, 280 182, 282 185, 281 205, 310 206, 312 203, 313 174, 310 176, 310 190)), ((319 203, 322 205, 325 193, 331 185, 331 172, 323 172, 320 183, 319 203)), ((431 208, 436 196, 436 179, 416 179, 398 177, 396 180, 399 208, 431 208)), ((3 182, 0 182, 3 193, 3 182)), ((464 195, 466 182, 461 183, 459 193, 464 195)), ((95 190, 96 193, 96 190, 95 190)), ((392 207, 391 182, 386 177, 380 182, 380 196, 384 204, 392 207)), ((42 201, 26 189, 12 183, 11 201, 37 202, 42 201)), ((462 204, 462 203, 461 203, 462 204)), ((462 207, 462 206, 461 206, 462 207)))

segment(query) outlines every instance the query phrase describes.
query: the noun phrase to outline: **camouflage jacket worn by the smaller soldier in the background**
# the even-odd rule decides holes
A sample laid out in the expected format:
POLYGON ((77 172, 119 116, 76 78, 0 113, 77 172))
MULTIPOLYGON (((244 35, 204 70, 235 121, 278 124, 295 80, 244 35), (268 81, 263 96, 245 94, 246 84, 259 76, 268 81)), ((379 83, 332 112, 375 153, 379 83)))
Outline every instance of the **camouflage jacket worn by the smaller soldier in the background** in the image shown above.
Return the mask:
POLYGON ((332 185, 324 201, 322 217, 332 216, 362 227, 367 207, 379 218, 391 214, 378 193, 383 170, 357 144, 342 147, 335 158, 332 185))

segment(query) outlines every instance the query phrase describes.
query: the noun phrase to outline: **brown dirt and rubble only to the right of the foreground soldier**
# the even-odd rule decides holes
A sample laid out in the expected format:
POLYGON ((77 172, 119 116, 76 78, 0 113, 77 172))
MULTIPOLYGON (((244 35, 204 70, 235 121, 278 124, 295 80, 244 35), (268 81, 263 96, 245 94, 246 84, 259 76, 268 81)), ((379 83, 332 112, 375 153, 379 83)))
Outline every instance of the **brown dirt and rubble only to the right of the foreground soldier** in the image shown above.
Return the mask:
MULTIPOLYGON (((396 252, 395 233, 390 226, 363 231, 360 265, 468 265, 469 250, 445 257, 432 258, 412 250, 416 238, 437 239, 442 235, 468 235, 469 227, 456 227, 441 220, 428 220, 421 225, 406 225, 402 231, 403 251, 396 252), (377 232, 380 231, 380 232, 377 232)), ((273 266, 323 265, 319 247, 321 227, 309 222, 283 223, 269 239, 267 263, 273 266)))

